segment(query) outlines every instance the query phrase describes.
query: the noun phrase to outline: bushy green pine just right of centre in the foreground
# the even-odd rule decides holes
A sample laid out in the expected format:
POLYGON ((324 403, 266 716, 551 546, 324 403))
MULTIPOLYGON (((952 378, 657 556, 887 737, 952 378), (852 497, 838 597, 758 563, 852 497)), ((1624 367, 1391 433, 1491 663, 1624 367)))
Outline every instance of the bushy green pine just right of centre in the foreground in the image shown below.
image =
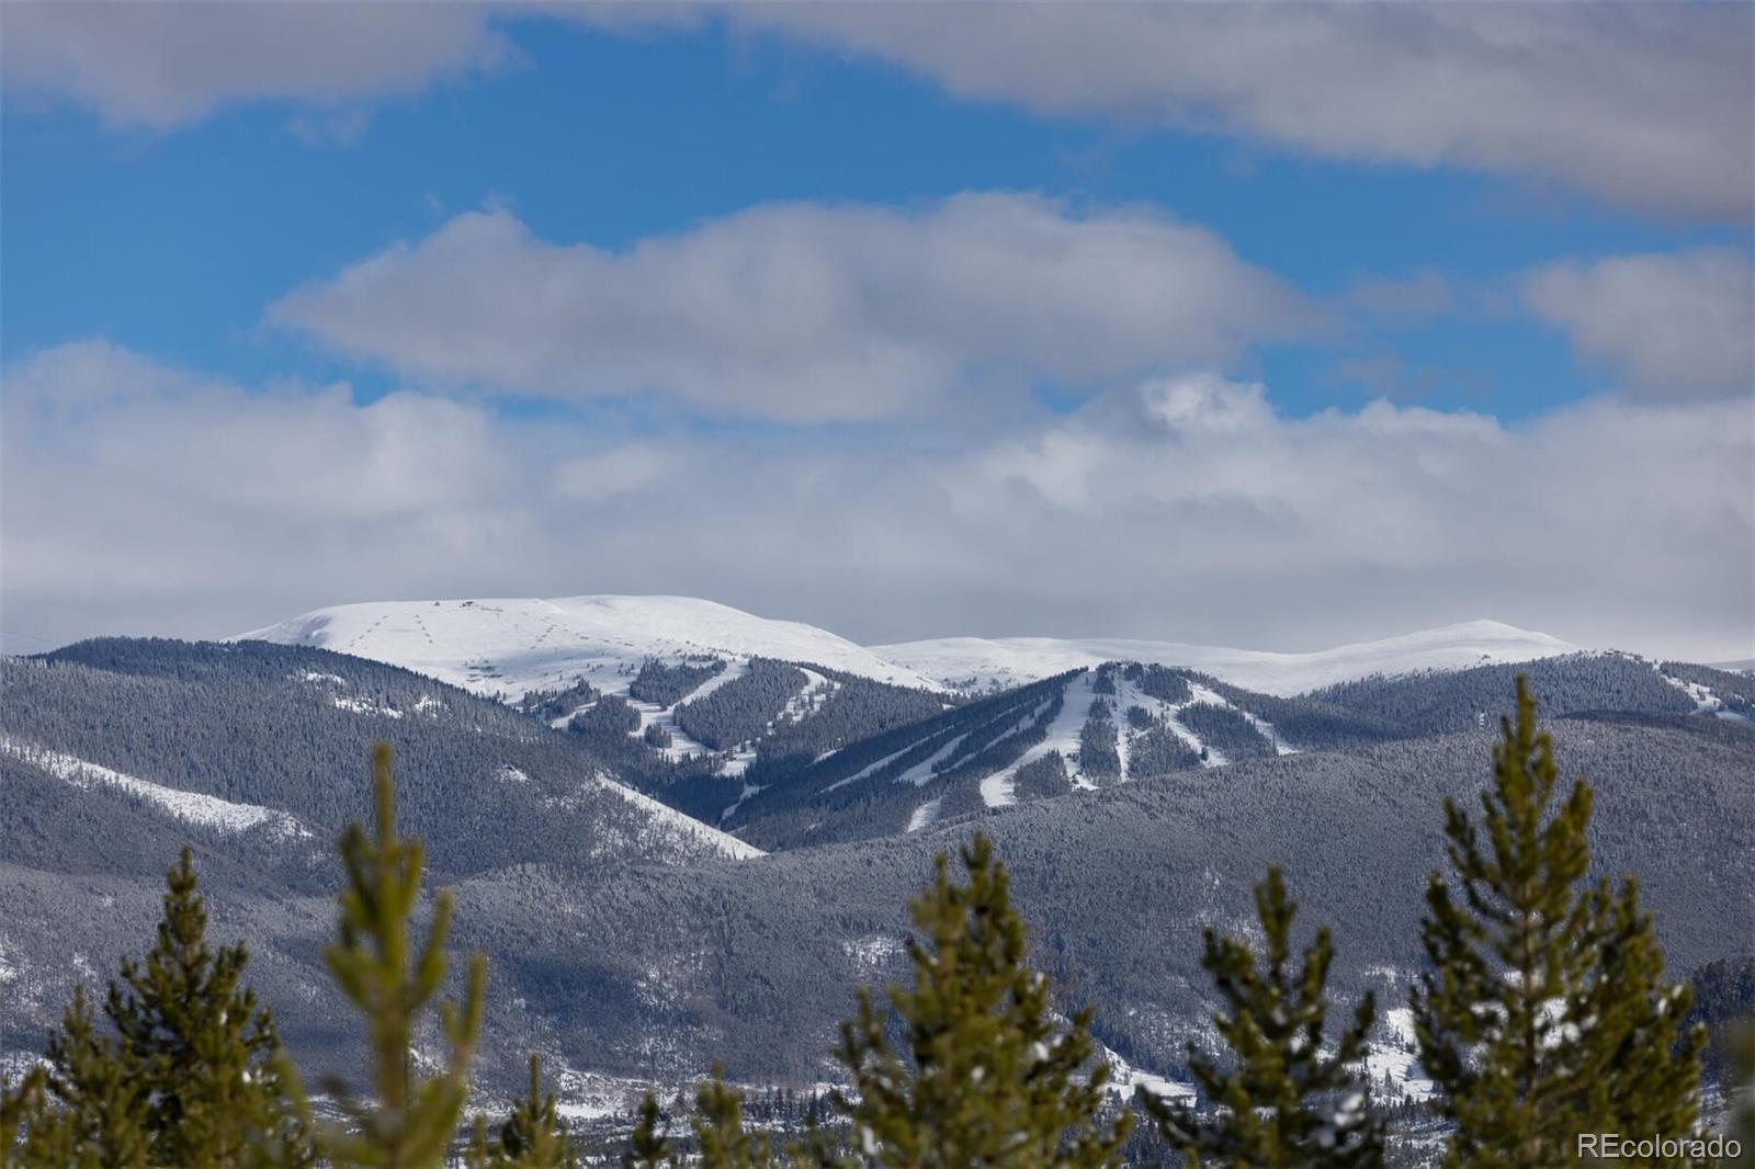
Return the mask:
POLYGON ((1132 1116, 1104 1132, 1109 1069, 1079 1074, 1097 1051, 1092 1008, 1069 1027, 1057 1023, 1048 979, 1025 962, 1025 925, 986 836, 963 846, 962 862, 969 885, 951 883, 941 853, 934 886, 913 902, 925 936, 907 943, 914 986, 888 988, 906 1058, 890 1044, 890 1011, 862 988, 837 1050, 856 1101, 837 1092, 835 1106, 872 1165, 1120 1164, 1132 1116))

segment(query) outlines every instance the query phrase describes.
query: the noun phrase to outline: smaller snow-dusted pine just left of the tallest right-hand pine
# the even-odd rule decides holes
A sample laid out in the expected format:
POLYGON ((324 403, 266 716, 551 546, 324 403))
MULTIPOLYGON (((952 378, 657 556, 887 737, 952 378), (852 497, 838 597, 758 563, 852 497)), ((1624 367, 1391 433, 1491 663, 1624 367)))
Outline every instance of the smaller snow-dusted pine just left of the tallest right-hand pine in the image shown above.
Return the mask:
POLYGON ((1255 886, 1255 909, 1267 937, 1262 969, 1246 941, 1211 929, 1200 958, 1228 1011, 1213 1022, 1232 1051, 1232 1069, 1221 1071, 1190 1044, 1190 1071, 1206 1101, 1220 1108, 1218 1115, 1197 1116, 1144 1090, 1139 1102, 1190 1164, 1381 1165, 1383 1122, 1364 1108, 1369 1085, 1358 1071, 1376 1002, 1367 993, 1334 1053, 1323 1055, 1334 960, 1329 930, 1316 930, 1293 969, 1290 937, 1297 902, 1286 895, 1278 867, 1255 886))

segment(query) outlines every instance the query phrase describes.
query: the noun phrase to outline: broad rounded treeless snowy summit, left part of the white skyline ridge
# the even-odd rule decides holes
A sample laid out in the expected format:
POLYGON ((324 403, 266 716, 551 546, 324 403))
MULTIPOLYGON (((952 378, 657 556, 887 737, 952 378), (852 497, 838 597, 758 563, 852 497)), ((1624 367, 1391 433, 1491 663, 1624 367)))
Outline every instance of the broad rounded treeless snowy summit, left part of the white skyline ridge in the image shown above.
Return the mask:
POLYGON ((690 655, 811 662, 900 686, 941 688, 828 630, 693 597, 388 600, 316 609, 239 641, 351 653, 483 695, 518 697, 579 676, 625 693, 646 658, 690 655))

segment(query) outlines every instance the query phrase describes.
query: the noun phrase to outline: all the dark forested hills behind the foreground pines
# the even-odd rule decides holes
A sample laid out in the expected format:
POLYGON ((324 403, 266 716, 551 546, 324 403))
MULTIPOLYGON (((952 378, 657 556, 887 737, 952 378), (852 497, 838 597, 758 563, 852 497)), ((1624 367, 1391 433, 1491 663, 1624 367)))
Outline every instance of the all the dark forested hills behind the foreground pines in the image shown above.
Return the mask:
MULTIPOLYGON (((1755 730, 1676 713, 1671 695, 1687 711, 1701 702, 1650 663, 1609 663, 1592 690, 1599 665, 1574 663, 1562 692, 1590 709, 1553 727, 1562 767, 1597 785, 1601 869, 1639 872, 1673 967, 1746 957, 1755 730), (1602 709, 1615 695, 1655 709, 1602 709)), ((649 760, 639 725, 651 723, 623 699, 598 707, 590 686, 525 713, 304 648, 88 642, 9 660, 0 969, 21 1009, 4 1046, 35 1048, 75 979, 139 948, 167 858, 190 841, 216 932, 251 943, 288 1041, 349 1065, 353 1039, 309 1004, 332 922, 330 841, 363 814, 365 749, 383 737, 398 749, 409 830, 458 890, 456 944, 491 958, 488 1083, 516 1083, 526 1048, 563 1090, 618 1101, 632 1081, 676 1083, 713 1058, 744 1079, 820 1078, 848 988, 897 969, 911 890, 974 825, 1014 872, 1044 967, 1102 1004, 1097 1036, 1137 1074, 1178 1076, 1183 1041, 1204 1036, 1199 930, 1237 925, 1269 862, 1334 925, 1343 995, 1404 992, 1423 876, 1439 864, 1437 800, 1476 790, 1495 734, 1479 723, 1504 704, 1416 735, 1395 720, 1455 718, 1474 681, 1425 679, 1443 695, 1425 704, 1381 697, 1422 679, 1265 700, 1123 663, 944 709, 807 665, 770 678, 795 683, 786 671, 820 686, 821 711, 844 707, 776 720, 741 774, 714 779, 758 788, 732 823, 790 850, 739 862, 725 857, 749 844, 600 776, 616 764, 595 744, 649 760), (546 725, 581 713, 605 728, 546 725), (897 725, 849 741, 869 718, 897 725), (1309 725, 1371 730, 1322 751, 1288 734, 1309 725)))

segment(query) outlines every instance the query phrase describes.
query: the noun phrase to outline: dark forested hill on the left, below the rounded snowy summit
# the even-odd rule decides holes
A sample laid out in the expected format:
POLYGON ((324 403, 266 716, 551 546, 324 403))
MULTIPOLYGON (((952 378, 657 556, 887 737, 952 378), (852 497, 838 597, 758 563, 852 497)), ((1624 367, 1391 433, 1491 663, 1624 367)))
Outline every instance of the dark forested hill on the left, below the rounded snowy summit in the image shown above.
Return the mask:
MULTIPOLYGON (((326 853, 342 825, 370 811, 356 778, 376 741, 391 742, 419 776, 404 793, 404 816, 426 837, 444 879, 523 862, 677 860, 737 848, 667 809, 630 802, 637 797, 605 785, 600 760, 569 737, 362 658, 263 642, 105 639, 46 658, 7 658, 4 671, 0 732, 11 749, 0 758, 9 778, 21 778, 0 793, 5 858, 14 864, 32 864, 37 850, 65 850, 58 821, 25 814, 28 802, 56 790, 46 781, 58 785, 68 816, 91 809, 95 820, 105 814, 98 807, 119 804, 190 821, 165 811, 163 799, 142 799, 142 783, 272 809, 307 836, 232 836, 277 864, 326 853), (105 769, 135 783, 93 778, 105 769), (79 799, 68 799, 74 783, 79 799)), ((109 858, 97 850, 86 864, 109 858)))

